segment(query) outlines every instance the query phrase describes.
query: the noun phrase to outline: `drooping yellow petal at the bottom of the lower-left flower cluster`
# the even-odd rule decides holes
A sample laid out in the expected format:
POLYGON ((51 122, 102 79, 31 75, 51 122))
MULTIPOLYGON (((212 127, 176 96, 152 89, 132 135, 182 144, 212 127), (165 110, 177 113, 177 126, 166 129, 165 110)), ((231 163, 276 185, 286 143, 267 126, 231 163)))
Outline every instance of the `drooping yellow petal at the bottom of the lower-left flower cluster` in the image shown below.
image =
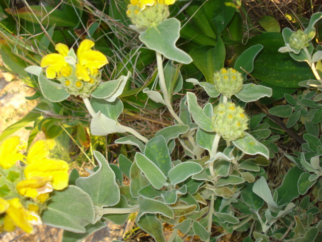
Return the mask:
MULTIPOLYGON (((8 200, 8 203, 10 204, 10 206, 7 210, 7 215, 10 217, 11 222, 17 227, 20 227, 25 232, 32 233, 33 227, 27 220, 27 210, 21 205, 21 203, 19 202, 19 198, 8 200)), ((10 221, 7 221, 6 225, 5 222, 5 229, 6 227, 12 228, 12 223, 10 223, 10 221)))

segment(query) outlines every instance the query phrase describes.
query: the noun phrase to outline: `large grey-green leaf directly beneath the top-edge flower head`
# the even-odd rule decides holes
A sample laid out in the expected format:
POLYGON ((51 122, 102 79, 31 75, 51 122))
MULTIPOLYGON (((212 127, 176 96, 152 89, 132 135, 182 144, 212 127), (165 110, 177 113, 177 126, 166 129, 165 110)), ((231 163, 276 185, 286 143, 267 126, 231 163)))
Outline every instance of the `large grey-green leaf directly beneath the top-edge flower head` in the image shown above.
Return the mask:
POLYGON ((192 62, 192 58, 183 50, 176 47, 179 39, 180 21, 174 18, 151 26, 140 34, 139 39, 149 48, 162 53, 168 59, 183 64, 192 62))

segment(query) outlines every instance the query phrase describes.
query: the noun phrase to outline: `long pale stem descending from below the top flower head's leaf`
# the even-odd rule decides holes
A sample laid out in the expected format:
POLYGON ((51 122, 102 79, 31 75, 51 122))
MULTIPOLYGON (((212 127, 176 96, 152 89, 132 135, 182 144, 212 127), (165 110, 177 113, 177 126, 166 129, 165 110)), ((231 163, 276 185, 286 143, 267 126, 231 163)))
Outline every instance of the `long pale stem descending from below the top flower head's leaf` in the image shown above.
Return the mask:
POLYGON ((165 74, 163 72, 163 65, 162 65, 162 54, 155 51, 156 53, 156 65, 157 65, 157 73, 159 76, 159 85, 160 89, 163 92, 164 99, 166 101, 166 106, 168 110, 170 111, 171 115, 177 120, 177 122, 181 125, 183 125, 182 120, 180 117, 175 113, 175 111, 172 108, 171 100, 169 97, 168 89, 167 89, 167 84, 166 84, 166 79, 165 79, 165 74))

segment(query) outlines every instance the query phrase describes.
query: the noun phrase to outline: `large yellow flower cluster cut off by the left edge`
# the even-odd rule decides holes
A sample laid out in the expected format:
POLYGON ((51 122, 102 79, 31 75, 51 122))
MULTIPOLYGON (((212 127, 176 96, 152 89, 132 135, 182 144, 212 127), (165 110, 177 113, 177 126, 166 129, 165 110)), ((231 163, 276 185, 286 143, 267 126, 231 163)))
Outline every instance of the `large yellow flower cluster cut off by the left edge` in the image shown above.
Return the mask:
POLYGON ((52 140, 37 141, 25 156, 18 136, 0 145, 0 231, 20 227, 32 233, 32 225, 41 224, 39 205, 68 186, 68 164, 47 158, 54 146, 52 140))

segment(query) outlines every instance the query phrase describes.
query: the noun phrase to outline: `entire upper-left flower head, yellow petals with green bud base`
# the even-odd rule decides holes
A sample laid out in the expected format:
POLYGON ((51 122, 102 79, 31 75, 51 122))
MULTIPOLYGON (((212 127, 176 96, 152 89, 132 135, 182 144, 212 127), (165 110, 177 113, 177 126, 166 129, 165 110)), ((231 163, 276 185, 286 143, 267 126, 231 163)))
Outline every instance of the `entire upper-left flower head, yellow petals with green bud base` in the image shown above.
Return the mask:
POLYGON ((73 49, 58 43, 58 53, 45 55, 40 66, 46 68, 47 78, 57 78, 69 94, 89 96, 100 83, 99 69, 109 63, 102 52, 92 50, 94 45, 92 40, 83 40, 75 55, 73 49))

